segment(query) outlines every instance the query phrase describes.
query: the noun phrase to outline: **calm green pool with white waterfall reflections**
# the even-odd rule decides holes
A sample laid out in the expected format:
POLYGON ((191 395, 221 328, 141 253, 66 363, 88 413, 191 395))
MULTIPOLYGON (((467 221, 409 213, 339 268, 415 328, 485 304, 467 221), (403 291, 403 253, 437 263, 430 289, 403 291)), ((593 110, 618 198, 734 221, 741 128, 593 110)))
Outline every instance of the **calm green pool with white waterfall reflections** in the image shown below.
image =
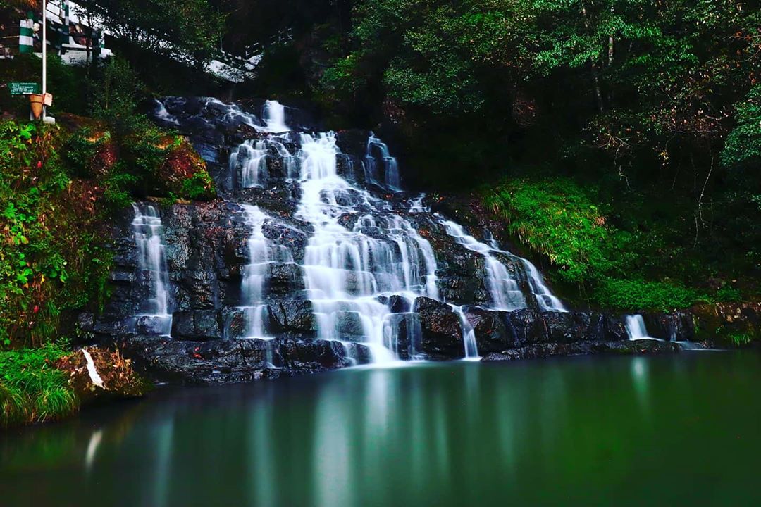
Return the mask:
POLYGON ((759 356, 357 369, 0 437, 2 505, 759 505, 759 356))

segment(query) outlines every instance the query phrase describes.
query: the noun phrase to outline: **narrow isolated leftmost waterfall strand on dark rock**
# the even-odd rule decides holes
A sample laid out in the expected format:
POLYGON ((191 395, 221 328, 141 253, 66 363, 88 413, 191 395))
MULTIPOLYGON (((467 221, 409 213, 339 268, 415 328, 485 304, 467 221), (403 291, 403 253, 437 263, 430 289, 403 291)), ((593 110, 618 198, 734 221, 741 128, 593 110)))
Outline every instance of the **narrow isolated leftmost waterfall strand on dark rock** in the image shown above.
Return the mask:
POLYGON ((169 336, 172 329, 172 315, 169 312, 169 271, 164 241, 161 215, 150 204, 144 205, 145 212, 136 203, 132 204, 135 218, 132 230, 138 247, 138 277, 148 285, 148 299, 143 304, 141 316, 154 321, 153 329, 157 334, 169 336))

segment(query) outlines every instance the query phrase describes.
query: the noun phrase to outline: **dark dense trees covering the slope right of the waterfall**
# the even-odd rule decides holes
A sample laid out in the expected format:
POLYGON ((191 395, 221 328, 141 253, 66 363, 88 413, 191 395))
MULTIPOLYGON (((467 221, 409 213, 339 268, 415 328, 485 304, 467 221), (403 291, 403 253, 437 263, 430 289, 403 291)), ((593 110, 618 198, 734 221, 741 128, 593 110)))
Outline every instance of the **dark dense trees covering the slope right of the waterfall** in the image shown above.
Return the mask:
POLYGON ((314 87, 326 109, 363 119, 362 109, 368 125, 387 125, 403 142, 408 182, 526 178, 502 204, 512 233, 559 266, 554 279, 592 284, 614 306, 624 289, 663 296, 634 298, 643 305, 678 306, 728 280, 753 287, 759 2, 360 0, 352 21, 341 44, 323 45, 332 59, 314 87), (597 189, 591 204, 606 203, 599 218, 610 228, 582 227, 585 214, 557 221, 576 195, 570 183, 539 192, 557 181, 597 189), (656 280, 671 289, 632 288, 656 280))

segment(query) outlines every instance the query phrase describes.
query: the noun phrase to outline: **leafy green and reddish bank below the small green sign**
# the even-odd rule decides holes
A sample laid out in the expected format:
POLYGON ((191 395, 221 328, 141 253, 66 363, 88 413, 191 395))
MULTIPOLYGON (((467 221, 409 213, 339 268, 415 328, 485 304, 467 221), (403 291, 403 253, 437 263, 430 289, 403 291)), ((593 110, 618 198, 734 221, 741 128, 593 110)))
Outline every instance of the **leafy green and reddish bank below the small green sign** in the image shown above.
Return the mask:
MULTIPOLYGON (((0 123, 0 346, 56 337, 62 312, 100 305, 110 254, 57 127, 0 123)), ((89 196, 89 197, 88 197, 89 196)))

